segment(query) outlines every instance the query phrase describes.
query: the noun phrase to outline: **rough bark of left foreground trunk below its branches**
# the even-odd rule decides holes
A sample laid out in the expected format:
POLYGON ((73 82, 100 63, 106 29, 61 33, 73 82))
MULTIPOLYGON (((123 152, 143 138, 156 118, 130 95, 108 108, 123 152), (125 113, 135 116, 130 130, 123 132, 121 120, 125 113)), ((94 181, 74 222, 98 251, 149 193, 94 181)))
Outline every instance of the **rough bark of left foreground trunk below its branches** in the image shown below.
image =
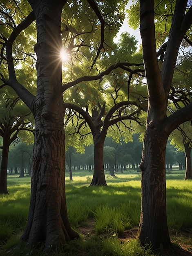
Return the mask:
POLYGON ((31 247, 66 244, 77 238, 69 224, 65 200, 65 133, 63 104, 45 120, 36 119, 29 220, 22 240, 31 247), (61 113, 63 112, 63 113, 61 113), (49 129, 45 132, 45 126, 49 129))

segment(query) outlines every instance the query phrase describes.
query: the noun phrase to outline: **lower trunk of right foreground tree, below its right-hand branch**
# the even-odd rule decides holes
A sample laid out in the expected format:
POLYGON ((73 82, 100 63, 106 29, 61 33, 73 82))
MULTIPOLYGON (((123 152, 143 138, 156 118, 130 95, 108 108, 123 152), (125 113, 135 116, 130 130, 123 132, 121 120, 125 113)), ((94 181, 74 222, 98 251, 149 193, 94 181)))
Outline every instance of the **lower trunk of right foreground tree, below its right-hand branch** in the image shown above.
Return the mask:
POLYGON ((138 238, 153 249, 171 245, 167 228, 165 149, 167 136, 159 128, 147 126, 141 168, 141 219, 138 238))

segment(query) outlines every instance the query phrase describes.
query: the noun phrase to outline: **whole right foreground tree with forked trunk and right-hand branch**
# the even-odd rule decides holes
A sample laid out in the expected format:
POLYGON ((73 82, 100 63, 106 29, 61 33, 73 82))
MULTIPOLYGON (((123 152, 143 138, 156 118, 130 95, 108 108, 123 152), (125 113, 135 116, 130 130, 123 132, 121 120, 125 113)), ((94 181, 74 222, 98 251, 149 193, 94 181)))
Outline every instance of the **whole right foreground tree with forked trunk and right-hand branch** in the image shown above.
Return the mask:
MULTIPOLYGON (((166 217, 165 148, 168 136, 191 119, 192 103, 167 117, 167 104, 179 47, 192 24, 192 7, 187 0, 174 1, 171 29, 163 56, 162 70, 156 54, 153 0, 140 0, 140 33, 148 88, 148 111, 141 159, 141 219, 138 238, 153 249, 171 247, 166 217)), ((159 3, 159 2, 158 2, 159 3)), ((162 2, 165 17, 169 17, 162 2)), ((160 8, 160 7, 159 7, 160 8)), ((173 9, 172 9, 173 10, 173 9)), ((189 95, 189 94, 188 94, 189 95)), ((188 96, 189 97, 189 96, 188 96)))

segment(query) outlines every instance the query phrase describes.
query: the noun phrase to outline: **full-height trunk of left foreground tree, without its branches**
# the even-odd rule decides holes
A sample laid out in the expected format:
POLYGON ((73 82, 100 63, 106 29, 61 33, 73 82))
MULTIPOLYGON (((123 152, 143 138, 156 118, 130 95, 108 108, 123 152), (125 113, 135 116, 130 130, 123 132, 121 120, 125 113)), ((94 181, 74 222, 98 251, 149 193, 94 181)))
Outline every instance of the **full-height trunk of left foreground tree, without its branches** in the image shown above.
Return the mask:
POLYGON ((37 95, 33 103, 35 140, 31 201, 27 227, 21 240, 45 251, 78 238, 67 216, 65 198, 65 106, 60 93, 60 20, 64 1, 29 1, 36 16, 38 43, 37 95), (63 4, 62 4, 63 2, 63 4))

